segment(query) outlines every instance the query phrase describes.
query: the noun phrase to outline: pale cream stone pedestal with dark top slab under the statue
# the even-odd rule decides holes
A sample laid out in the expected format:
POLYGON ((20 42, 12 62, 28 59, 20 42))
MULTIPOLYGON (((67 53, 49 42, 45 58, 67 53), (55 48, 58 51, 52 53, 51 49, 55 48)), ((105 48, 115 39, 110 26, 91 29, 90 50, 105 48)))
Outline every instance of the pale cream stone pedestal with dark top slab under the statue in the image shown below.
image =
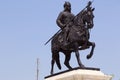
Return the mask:
POLYGON ((75 69, 47 76, 45 80, 112 80, 112 76, 100 70, 75 69))

